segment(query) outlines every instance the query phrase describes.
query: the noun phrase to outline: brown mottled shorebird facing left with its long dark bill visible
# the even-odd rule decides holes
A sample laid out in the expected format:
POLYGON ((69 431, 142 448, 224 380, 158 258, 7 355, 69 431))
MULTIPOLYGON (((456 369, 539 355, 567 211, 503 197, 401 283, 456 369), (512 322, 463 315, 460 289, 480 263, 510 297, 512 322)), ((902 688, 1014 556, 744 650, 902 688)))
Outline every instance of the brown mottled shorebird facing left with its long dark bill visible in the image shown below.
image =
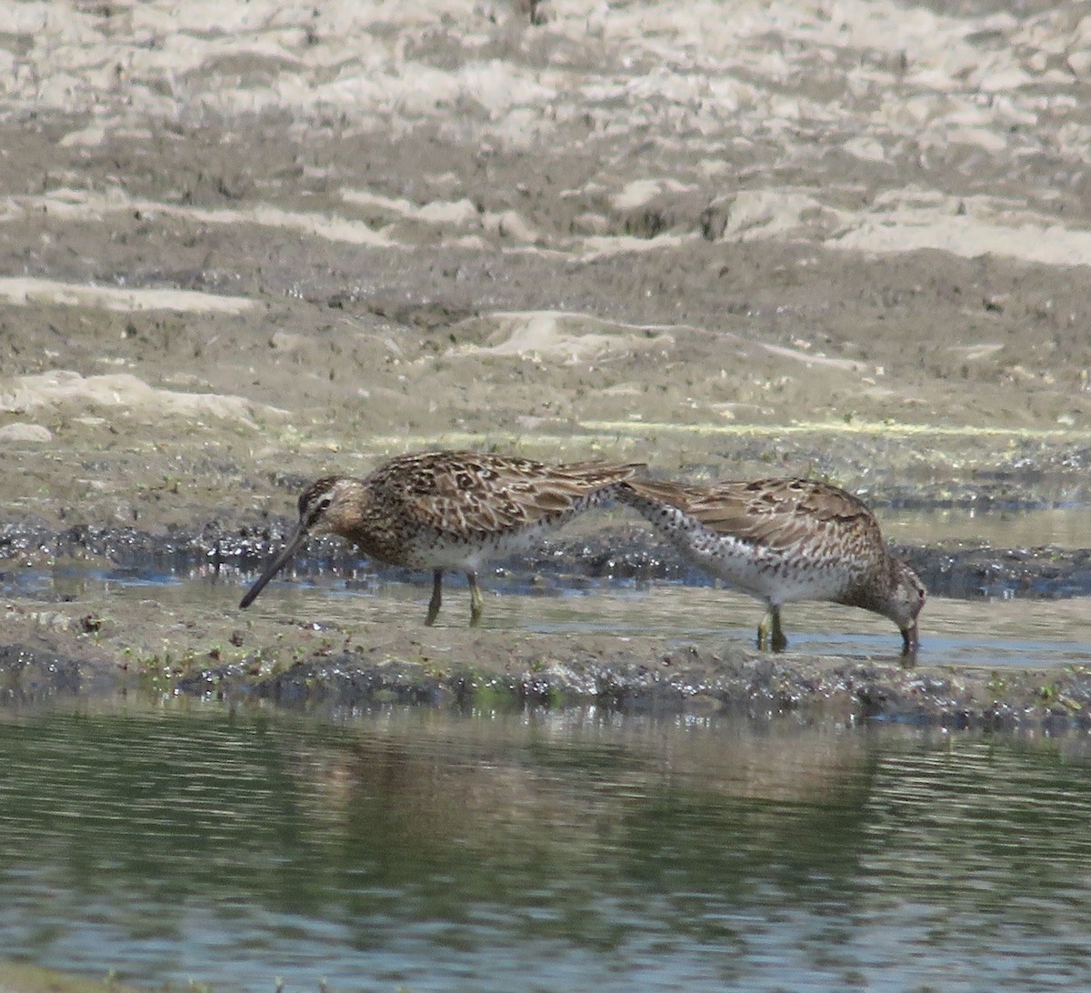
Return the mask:
POLYGON ((308 535, 334 534, 388 565, 432 570, 425 624, 440 612, 444 571, 463 570, 476 625, 483 608, 477 573, 484 560, 521 550, 606 502, 642 468, 443 451, 400 455, 363 479, 326 476, 300 495, 295 530, 239 606, 254 601, 308 535))

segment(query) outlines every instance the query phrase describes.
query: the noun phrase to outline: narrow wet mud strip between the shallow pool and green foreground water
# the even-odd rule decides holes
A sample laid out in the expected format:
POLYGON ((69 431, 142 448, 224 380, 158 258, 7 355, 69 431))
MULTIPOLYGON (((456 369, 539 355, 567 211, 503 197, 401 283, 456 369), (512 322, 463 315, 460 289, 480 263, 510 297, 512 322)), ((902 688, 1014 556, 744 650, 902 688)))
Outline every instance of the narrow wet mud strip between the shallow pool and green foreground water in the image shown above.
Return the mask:
MULTIPOLYGON (((72 626, 88 626, 82 620, 72 626)), ((56 624, 56 617, 49 621, 56 624)), ((314 625, 300 626, 304 637, 313 635, 314 625)), ((637 638, 619 648, 613 639, 594 636, 525 635, 501 644, 488 635, 432 638, 419 632, 403 635, 397 648, 387 635, 386 644, 338 651, 336 645, 349 638, 329 627, 323 634, 323 648, 287 668, 265 651, 228 665, 209 653, 173 662, 130 657, 118 666, 100 645, 91 650, 73 645, 93 638, 93 631, 39 637, 37 645, 0 647, 0 704, 70 706, 76 699, 190 695, 232 708, 273 704, 332 716, 400 706, 465 714, 591 707, 603 714, 887 722, 1032 735, 1091 730, 1086 670, 1000 674, 907 667, 892 654, 889 661, 772 657, 745 649, 714 655, 637 638)))

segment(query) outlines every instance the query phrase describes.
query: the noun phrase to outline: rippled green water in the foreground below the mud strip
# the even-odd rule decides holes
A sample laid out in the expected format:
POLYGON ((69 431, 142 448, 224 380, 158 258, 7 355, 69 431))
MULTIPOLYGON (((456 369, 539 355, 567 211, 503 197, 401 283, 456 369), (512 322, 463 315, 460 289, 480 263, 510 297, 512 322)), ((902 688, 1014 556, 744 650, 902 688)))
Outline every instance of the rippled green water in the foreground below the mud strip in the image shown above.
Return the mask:
POLYGON ((0 711, 0 959, 216 990, 1091 988, 1091 745, 0 711))

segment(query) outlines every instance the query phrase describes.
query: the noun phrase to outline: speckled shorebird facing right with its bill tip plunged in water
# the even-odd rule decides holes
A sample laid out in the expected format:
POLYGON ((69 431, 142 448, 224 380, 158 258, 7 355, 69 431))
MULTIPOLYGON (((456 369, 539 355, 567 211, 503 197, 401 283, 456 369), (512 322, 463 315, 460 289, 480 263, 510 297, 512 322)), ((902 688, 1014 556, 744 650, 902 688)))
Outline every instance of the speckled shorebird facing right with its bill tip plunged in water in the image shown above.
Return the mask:
POLYGON ((758 597, 758 648, 788 646, 780 608, 831 600, 889 618, 915 655, 925 589, 887 550, 875 515, 844 490, 806 479, 686 486, 626 481, 615 494, 639 511, 683 558, 758 597))

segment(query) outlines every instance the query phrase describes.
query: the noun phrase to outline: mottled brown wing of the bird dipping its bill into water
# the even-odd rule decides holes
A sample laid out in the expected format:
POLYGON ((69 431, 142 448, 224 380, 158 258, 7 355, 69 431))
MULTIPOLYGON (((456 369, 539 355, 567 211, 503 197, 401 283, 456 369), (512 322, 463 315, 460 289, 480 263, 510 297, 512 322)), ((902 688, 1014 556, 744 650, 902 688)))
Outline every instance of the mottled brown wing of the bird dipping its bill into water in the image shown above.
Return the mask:
POLYGON ((805 538, 859 531, 879 538, 871 511, 851 493, 806 479, 759 479, 711 486, 631 482, 628 486, 684 511, 711 530, 784 549, 805 538))

